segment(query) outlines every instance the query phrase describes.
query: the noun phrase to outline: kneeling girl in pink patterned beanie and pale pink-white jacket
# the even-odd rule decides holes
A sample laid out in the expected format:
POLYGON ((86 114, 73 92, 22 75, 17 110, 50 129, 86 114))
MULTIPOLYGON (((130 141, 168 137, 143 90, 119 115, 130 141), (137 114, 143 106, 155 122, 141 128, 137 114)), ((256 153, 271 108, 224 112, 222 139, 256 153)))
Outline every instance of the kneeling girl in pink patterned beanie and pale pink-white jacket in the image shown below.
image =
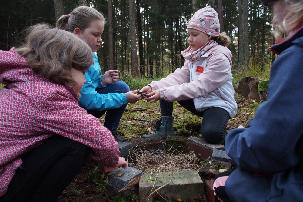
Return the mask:
POLYGON ((173 101, 203 117, 201 133, 206 141, 225 141, 228 119, 237 113, 231 75, 230 43, 225 32, 220 34, 218 13, 207 6, 195 12, 187 26, 189 47, 181 69, 160 81, 153 81, 140 91, 152 95, 149 102, 160 99, 161 118, 153 134, 142 138, 174 136, 173 101))

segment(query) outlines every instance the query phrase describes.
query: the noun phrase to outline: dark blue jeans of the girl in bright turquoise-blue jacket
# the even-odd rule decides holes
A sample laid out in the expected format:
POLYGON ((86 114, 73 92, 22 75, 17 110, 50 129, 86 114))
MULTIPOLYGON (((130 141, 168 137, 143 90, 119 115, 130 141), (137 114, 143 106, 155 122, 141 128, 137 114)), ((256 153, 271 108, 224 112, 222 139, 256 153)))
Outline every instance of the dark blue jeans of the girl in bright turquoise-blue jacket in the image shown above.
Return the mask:
MULTIPOLYGON (((127 93, 130 90, 125 82, 117 81, 113 84, 108 84, 105 88, 98 88, 96 89, 96 91, 99 94, 108 94, 108 93, 127 93)), ((96 118, 100 118, 106 112, 104 126, 110 131, 116 131, 126 107, 127 107, 127 103, 117 109, 109 109, 103 111, 87 109, 87 113, 92 114, 96 118)))

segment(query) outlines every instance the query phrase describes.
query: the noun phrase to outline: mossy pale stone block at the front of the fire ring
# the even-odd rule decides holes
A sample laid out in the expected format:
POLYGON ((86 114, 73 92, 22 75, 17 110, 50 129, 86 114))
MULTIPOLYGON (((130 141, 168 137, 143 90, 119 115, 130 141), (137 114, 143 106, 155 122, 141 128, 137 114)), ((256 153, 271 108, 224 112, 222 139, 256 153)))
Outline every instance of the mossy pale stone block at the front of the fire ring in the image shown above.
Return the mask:
POLYGON ((155 173, 152 176, 151 174, 141 176, 139 183, 140 202, 144 202, 148 198, 151 190, 153 192, 165 184, 167 185, 157 191, 158 194, 155 192, 150 196, 149 202, 162 199, 161 196, 170 201, 195 200, 204 196, 203 181, 197 171, 155 173), (171 182, 167 184, 170 180, 171 182), (155 183, 155 188, 151 183, 155 183))

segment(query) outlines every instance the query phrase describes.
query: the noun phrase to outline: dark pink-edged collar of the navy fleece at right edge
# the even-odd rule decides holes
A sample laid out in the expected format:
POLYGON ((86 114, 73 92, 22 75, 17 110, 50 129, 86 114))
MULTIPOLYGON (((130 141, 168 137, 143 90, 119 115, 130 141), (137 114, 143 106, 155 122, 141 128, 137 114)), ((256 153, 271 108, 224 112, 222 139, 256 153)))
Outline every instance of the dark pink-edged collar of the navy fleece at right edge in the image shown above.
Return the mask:
POLYGON ((303 26, 301 26, 293 35, 291 35, 290 38, 282 41, 279 44, 272 45, 269 50, 273 51, 277 55, 280 55, 282 51, 294 44, 303 47, 303 26))

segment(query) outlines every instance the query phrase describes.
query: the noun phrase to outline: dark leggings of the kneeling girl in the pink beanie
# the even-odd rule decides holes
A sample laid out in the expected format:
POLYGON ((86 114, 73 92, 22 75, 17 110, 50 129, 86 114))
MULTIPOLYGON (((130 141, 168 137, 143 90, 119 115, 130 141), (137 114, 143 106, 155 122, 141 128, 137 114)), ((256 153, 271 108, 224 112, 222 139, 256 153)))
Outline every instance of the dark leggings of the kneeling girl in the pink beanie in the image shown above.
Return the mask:
MULTIPOLYGON (((212 144, 223 143, 226 136, 226 125, 230 116, 228 112, 220 107, 212 107, 202 112, 196 110, 194 100, 177 101, 185 109, 197 116, 203 117, 201 133, 206 141, 212 144)), ((172 116, 173 104, 165 100, 160 100, 161 116, 172 116)))

